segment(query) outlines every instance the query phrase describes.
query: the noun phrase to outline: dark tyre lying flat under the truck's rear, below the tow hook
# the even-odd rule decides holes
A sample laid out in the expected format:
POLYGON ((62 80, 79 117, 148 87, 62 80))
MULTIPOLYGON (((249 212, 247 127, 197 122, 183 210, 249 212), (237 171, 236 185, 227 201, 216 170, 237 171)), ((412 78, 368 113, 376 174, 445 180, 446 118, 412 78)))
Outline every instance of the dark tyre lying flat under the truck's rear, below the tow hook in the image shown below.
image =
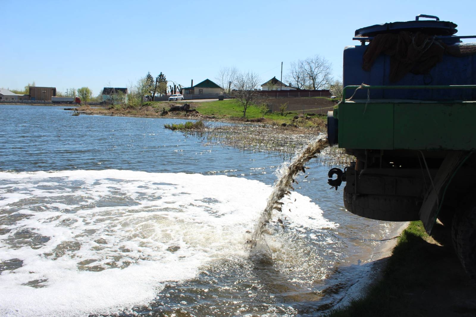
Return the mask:
POLYGON ((351 213, 376 220, 418 220, 419 206, 415 198, 405 196, 354 195, 344 187, 344 207, 351 213))

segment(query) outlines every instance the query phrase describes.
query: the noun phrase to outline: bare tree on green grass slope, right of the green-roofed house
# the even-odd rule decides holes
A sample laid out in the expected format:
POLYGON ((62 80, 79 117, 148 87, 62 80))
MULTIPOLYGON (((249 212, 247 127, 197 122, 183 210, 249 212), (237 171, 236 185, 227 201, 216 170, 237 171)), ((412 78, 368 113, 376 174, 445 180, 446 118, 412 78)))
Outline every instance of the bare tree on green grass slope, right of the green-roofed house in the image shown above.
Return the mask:
POLYGON ((259 82, 258 74, 250 71, 238 73, 235 77, 232 95, 243 106, 243 118, 246 118, 248 106, 258 96, 259 82))

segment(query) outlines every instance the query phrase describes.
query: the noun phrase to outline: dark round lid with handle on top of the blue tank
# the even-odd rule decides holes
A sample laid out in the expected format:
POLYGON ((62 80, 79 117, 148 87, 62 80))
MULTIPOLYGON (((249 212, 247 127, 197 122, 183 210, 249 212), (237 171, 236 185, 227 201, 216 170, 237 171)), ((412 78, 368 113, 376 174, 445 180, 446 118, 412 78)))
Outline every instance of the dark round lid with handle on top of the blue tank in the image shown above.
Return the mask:
POLYGON ((389 22, 376 24, 356 30, 355 37, 371 37, 383 33, 398 33, 400 31, 421 31, 431 35, 453 35, 457 25, 449 21, 440 21, 436 16, 420 14, 414 21, 389 22), (419 18, 430 18, 435 20, 419 20, 419 18))

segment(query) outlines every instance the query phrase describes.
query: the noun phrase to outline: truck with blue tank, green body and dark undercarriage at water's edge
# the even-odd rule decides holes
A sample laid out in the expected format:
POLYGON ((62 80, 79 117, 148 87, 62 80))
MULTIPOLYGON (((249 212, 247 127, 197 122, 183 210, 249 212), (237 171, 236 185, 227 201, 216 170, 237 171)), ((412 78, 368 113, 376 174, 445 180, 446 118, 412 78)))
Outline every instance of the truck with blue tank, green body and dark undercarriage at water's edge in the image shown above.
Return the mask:
POLYGON ((456 31, 427 15, 356 30, 327 116, 329 144, 355 160, 328 182, 345 183, 353 214, 420 219, 429 234, 439 220, 476 281, 476 43, 460 42, 476 36, 456 31))

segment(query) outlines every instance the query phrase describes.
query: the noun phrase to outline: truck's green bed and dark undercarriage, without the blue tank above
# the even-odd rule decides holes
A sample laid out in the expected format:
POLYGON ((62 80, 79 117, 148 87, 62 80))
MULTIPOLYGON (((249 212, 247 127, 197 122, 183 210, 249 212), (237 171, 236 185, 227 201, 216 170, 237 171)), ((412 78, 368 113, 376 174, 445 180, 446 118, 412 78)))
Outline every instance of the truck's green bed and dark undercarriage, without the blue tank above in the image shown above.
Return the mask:
MULTIPOLYGON (((378 220, 436 219, 476 281, 476 101, 346 99, 349 89, 476 89, 475 85, 347 86, 328 113, 328 139, 356 158, 329 171, 353 214, 378 220)), ((467 91, 467 90, 466 90, 467 91)))

